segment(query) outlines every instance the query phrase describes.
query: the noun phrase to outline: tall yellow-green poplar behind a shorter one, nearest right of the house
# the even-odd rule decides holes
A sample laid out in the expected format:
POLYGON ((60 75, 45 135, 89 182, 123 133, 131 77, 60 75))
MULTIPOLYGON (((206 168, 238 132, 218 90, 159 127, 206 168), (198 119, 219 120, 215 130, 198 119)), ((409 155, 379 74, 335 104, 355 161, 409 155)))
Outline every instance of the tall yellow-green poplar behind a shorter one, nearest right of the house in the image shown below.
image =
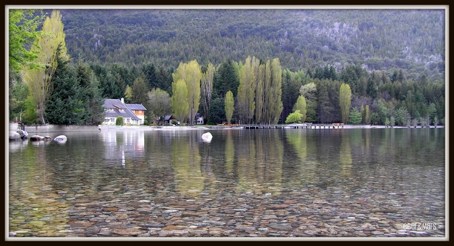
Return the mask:
POLYGON ((189 125, 194 125, 194 118, 200 104, 200 79, 202 78, 202 70, 196 60, 188 63, 180 63, 177 71, 172 74, 174 82, 180 79, 187 87, 187 103, 189 125))

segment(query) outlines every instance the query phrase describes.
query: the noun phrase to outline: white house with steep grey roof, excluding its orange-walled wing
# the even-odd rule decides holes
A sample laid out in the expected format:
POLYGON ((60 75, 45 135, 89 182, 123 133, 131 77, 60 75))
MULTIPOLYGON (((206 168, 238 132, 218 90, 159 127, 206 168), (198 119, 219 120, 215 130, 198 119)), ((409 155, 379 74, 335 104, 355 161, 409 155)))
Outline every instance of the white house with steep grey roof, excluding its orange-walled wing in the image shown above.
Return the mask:
MULTIPOLYGON (((123 101, 119 99, 104 99, 104 104, 102 104, 105 111, 104 124, 106 125, 115 125, 117 117, 122 116, 123 122, 126 125, 138 125, 140 123, 140 118, 137 117, 123 101)), ((142 120, 143 124, 143 120, 142 120)))

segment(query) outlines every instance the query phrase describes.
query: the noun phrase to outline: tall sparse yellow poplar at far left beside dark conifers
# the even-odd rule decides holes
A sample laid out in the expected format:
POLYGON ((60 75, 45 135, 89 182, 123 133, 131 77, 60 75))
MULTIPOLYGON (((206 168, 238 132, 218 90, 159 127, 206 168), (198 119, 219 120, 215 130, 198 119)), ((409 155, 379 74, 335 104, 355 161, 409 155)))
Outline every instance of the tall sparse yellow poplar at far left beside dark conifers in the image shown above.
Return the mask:
POLYGON ((60 51, 60 57, 68 59, 65 44, 65 33, 63 32, 62 15, 60 11, 54 10, 50 17, 43 23, 43 36, 39 39, 39 47, 32 46, 31 51, 38 55, 38 63, 45 66, 43 69, 33 69, 24 72, 24 80, 29 87, 32 103, 35 104, 38 116, 43 124, 44 108, 48 97, 52 93, 52 76, 57 67, 56 58, 60 51))

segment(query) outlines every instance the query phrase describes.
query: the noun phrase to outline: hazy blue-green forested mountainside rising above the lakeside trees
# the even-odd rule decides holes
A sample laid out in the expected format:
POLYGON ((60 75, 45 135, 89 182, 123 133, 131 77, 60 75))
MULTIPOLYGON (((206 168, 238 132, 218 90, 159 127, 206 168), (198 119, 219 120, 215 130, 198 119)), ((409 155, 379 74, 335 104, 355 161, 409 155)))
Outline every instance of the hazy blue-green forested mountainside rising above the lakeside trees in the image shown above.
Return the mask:
MULTIPOLYGON (((50 12, 49 12, 50 13, 50 12)), ((279 58, 291 71, 362 65, 444 78, 443 10, 62 10, 68 52, 86 61, 177 67, 279 58)))

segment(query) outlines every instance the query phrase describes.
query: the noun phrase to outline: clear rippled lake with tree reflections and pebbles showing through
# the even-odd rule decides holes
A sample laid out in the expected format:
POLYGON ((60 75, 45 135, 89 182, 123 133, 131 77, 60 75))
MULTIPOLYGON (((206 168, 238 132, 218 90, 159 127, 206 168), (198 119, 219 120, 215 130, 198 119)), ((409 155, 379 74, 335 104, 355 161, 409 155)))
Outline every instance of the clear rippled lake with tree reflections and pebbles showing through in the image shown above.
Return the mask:
POLYGON ((445 236, 444 128, 61 134, 9 143, 14 238, 445 236))

